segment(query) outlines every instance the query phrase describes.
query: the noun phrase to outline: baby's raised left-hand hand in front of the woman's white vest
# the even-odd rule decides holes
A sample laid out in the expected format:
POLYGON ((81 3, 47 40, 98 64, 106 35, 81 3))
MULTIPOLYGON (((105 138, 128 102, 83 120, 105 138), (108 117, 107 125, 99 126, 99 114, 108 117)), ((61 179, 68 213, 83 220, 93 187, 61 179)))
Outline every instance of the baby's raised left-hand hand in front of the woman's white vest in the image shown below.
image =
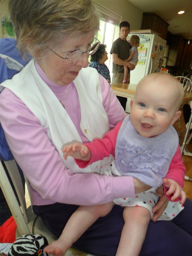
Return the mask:
POLYGON ((72 156, 75 159, 81 159, 82 161, 89 161, 91 158, 89 149, 85 145, 77 142, 65 146, 62 153, 65 160, 67 160, 68 156, 72 156))

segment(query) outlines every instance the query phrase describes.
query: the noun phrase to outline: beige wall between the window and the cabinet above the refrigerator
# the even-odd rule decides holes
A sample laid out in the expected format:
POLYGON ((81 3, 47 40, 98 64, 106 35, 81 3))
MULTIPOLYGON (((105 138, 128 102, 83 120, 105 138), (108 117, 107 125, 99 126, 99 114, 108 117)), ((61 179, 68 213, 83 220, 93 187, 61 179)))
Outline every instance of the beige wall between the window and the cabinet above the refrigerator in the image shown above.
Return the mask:
POLYGON ((131 30, 141 28, 143 12, 127 0, 94 0, 94 2, 121 16, 121 21, 128 21, 131 30))

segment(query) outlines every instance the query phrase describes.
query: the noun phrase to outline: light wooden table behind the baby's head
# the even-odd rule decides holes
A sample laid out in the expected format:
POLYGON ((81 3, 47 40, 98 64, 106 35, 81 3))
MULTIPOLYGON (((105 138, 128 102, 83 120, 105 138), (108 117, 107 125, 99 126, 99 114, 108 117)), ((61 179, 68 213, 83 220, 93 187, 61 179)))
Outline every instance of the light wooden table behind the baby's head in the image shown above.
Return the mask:
MULTIPOLYGON (((115 95, 133 99, 135 95, 135 89, 137 87, 137 84, 133 83, 112 83, 111 88, 115 95)), ((183 98, 183 104, 186 104, 188 101, 192 100, 192 92, 185 92, 184 98, 183 98)))

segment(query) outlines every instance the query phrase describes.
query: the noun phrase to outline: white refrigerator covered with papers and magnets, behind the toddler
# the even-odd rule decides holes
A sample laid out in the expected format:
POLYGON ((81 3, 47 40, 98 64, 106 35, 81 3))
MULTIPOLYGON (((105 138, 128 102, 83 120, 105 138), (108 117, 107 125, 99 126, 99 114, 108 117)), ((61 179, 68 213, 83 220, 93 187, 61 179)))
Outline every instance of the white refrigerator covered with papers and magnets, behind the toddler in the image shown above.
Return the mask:
MULTIPOLYGON (((137 84, 147 74, 161 71, 166 40, 156 34, 131 33, 127 36, 128 41, 132 35, 140 37, 138 63, 130 73, 130 83, 137 84)), ((130 113, 129 104, 130 100, 128 99, 126 105, 128 113, 130 113)))

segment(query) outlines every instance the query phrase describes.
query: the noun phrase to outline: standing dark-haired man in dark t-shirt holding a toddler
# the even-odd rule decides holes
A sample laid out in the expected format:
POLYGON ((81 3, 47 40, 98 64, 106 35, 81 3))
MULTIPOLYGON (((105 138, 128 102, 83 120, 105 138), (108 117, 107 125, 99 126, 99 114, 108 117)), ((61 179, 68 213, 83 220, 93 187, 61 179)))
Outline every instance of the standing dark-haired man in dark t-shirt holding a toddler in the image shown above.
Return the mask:
MULTIPOLYGON (((126 40, 129 31, 130 31, 130 24, 127 21, 123 21, 119 25, 119 33, 120 36, 113 42, 110 54, 112 54, 113 58, 113 78, 112 83, 122 83, 124 77, 124 67, 127 66, 130 70, 133 70, 135 67, 129 63, 124 61, 129 57, 129 50, 131 48, 129 42, 126 40)), ((127 83, 130 82, 130 71, 127 74, 127 83)), ((122 107, 126 108, 127 98, 123 98, 117 96, 118 100, 120 101, 122 107)))

